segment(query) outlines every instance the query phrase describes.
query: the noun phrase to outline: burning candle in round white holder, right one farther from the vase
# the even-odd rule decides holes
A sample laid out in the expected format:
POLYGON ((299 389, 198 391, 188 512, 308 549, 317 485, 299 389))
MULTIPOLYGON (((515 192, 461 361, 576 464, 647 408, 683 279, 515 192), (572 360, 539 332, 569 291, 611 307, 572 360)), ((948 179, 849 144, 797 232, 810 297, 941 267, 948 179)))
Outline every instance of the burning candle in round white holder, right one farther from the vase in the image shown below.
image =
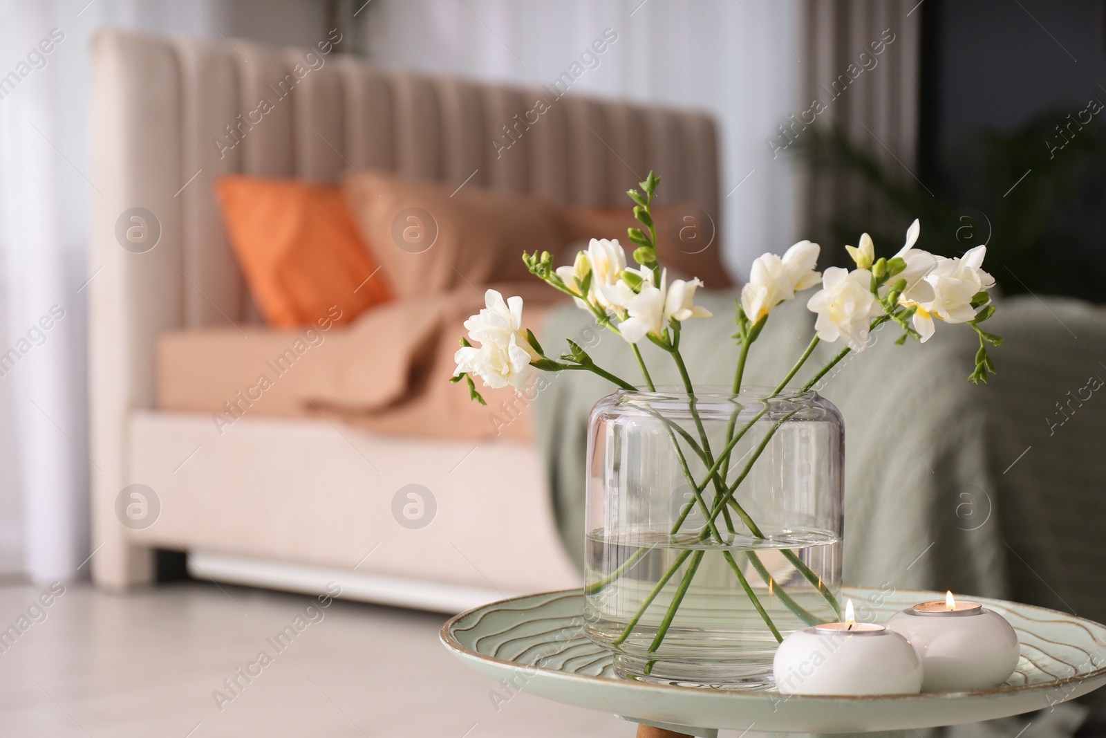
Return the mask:
POLYGON ((1006 620, 978 602, 922 602, 896 613, 888 630, 904 635, 921 662, 922 692, 987 689, 1010 678, 1021 651, 1006 620))

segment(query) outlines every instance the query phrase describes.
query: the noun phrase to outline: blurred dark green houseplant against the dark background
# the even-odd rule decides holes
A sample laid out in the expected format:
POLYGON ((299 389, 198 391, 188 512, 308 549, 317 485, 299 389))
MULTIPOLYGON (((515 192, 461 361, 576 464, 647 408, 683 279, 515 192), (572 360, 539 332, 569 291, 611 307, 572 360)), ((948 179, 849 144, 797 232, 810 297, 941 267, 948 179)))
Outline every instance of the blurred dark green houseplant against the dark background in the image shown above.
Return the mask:
MULTIPOLYGON (((1104 117, 1093 97, 1084 108, 1044 111, 1009 132, 984 131, 946 153, 954 171, 926 174, 925 185, 839 127, 811 127, 793 150, 815 176, 851 175, 864 190, 855 200, 865 207, 813 224, 820 237, 844 240, 862 224, 870 228, 875 205, 891 222, 920 216, 932 253, 957 257, 977 243, 992 243, 990 258, 999 264, 992 272, 1003 293, 1100 303, 1106 302, 1104 117)), ((878 226, 874 230, 876 240, 890 235, 878 226)))

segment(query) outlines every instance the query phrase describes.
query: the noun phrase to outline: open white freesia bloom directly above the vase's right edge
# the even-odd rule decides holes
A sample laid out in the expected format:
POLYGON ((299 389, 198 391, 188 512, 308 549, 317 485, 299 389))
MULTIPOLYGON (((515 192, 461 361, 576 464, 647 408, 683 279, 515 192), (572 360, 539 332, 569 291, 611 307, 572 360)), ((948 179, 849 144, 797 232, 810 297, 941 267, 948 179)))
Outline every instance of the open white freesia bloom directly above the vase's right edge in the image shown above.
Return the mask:
POLYGON ((872 272, 867 269, 848 271, 841 267, 826 269, 822 289, 806 303, 818 320, 814 324, 823 341, 842 339, 853 351, 864 351, 868 342, 872 318, 883 312, 872 294, 872 272))

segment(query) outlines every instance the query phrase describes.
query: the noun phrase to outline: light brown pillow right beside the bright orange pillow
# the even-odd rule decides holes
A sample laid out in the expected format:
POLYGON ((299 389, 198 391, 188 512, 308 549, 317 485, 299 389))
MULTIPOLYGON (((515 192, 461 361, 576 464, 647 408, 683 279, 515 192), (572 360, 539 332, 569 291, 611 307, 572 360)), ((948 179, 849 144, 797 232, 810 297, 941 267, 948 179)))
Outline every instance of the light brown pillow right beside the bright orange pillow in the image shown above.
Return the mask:
POLYGON ((542 198, 379 170, 349 171, 344 189, 362 237, 398 298, 466 283, 524 281, 522 251, 563 250, 561 206, 542 198))

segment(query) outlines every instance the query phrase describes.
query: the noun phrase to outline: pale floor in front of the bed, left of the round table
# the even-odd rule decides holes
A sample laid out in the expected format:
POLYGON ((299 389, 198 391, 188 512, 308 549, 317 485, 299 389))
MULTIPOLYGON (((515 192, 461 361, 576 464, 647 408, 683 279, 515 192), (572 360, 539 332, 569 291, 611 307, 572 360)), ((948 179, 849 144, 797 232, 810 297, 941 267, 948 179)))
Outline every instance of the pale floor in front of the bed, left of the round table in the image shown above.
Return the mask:
POLYGON ((497 685, 438 642, 444 615, 338 601, 322 609, 313 597, 198 582, 128 596, 72 585, 35 607, 46 591, 0 588, 0 631, 25 627, 14 643, 0 641, 0 736, 635 732, 611 715, 524 694, 497 710, 489 696, 497 685), (302 632, 278 651, 270 640, 296 616, 302 632), (271 663, 249 667, 262 651, 271 663), (231 692, 223 679, 240 667, 257 676, 239 676, 231 692))

